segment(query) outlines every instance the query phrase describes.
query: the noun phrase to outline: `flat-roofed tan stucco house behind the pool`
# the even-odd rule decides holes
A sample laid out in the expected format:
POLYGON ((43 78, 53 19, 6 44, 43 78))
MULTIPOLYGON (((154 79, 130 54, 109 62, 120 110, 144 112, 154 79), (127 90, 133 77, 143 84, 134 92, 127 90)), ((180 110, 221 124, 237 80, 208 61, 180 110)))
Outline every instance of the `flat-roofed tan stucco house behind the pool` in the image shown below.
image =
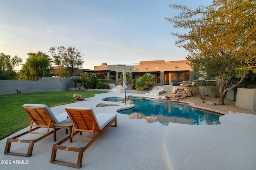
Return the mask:
POLYGON ((102 63, 100 66, 94 66, 94 70, 84 71, 85 73, 93 73, 100 79, 117 80, 126 69, 133 79, 142 77, 143 74, 149 72, 155 77, 155 85, 176 85, 182 81, 189 81, 194 78, 194 71, 188 65, 189 61, 140 61, 138 64, 116 64, 108 65, 102 63))

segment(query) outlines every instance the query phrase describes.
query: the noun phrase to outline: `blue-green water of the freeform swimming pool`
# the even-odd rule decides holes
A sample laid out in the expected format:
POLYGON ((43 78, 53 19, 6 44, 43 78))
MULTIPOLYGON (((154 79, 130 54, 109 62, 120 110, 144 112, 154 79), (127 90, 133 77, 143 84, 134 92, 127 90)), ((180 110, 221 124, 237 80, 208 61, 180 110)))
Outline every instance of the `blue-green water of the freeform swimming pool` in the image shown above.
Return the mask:
MULTIPOLYGON (((162 102, 154 99, 129 98, 133 100, 134 107, 121 110, 118 113, 130 115, 134 112, 142 113, 145 116, 156 117, 156 120, 165 126, 169 122, 188 125, 218 125, 221 114, 203 111, 189 107, 188 104, 177 102, 162 102)), ((106 98, 105 101, 124 101, 124 98, 106 98)))

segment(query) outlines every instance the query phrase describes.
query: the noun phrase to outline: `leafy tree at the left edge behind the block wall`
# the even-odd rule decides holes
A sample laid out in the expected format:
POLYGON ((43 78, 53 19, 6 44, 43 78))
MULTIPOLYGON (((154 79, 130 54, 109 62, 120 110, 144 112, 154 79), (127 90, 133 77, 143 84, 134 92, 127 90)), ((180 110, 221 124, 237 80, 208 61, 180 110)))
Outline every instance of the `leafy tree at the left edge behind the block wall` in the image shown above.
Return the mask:
POLYGON ((0 80, 15 80, 18 74, 14 68, 22 63, 22 59, 17 55, 11 57, 0 53, 0 80))

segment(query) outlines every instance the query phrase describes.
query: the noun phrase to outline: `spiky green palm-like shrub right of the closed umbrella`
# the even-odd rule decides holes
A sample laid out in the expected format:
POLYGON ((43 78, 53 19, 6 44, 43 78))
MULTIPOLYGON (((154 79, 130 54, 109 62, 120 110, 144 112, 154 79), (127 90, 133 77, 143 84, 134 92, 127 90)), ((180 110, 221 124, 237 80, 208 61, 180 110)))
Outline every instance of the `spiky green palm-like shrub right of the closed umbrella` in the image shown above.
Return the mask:
POLYGON ((146 73, 143 74, 142 78, 136 80, 135 89, 136 90, 149 90, 155 84, 155 78, 153 74, 146 73))

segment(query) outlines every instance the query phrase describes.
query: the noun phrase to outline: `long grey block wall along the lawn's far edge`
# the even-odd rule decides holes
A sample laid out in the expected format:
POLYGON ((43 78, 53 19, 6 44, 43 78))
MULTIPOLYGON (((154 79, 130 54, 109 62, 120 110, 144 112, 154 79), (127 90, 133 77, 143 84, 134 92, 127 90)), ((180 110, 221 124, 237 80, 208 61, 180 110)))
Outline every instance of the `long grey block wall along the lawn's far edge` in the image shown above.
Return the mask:
POLYGON ((74 87, 71 78, 42 77, 39 80, 0 80, 0 95, 34 92, 62 92, 74 87))

